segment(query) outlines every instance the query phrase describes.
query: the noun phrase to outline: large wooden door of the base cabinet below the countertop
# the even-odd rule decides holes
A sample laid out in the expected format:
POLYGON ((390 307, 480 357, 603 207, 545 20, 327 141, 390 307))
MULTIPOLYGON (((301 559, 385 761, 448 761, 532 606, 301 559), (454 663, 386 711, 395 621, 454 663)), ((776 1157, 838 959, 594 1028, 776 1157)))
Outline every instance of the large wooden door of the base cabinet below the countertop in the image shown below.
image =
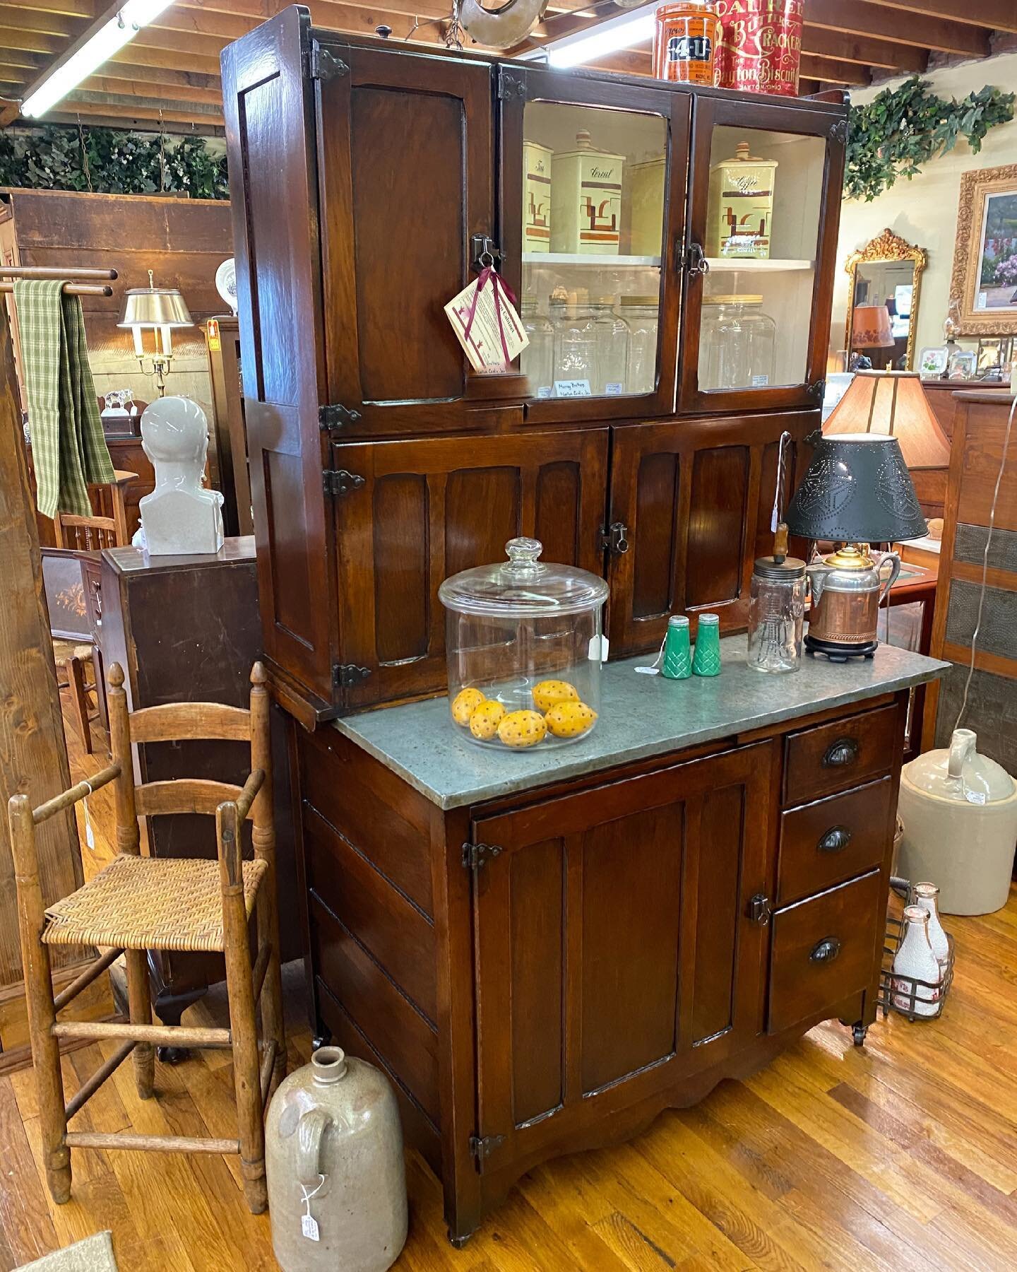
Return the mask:
POLYGON ((474 822, 501 848, 473 899, 486 1170, 665 1107, 761 1030, 772 764, 761 743, 474 822))

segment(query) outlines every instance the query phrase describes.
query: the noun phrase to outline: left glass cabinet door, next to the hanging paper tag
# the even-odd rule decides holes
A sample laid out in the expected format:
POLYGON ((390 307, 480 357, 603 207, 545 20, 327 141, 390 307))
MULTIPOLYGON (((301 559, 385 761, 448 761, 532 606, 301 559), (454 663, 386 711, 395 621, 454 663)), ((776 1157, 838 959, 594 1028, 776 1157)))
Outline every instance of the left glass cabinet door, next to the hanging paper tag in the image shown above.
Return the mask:
POLYGON ((526 418, 670 412, 689 94, 500 76, 503 272, 529 337, 526 418))

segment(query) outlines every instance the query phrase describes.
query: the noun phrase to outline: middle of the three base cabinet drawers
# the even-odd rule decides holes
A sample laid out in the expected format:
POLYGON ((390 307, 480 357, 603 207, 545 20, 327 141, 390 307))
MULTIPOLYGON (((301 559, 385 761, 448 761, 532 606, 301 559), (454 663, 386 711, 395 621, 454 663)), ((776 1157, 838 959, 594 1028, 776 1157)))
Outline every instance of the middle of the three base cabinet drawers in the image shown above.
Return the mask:
POLYGON ((892 785, 889 776, 880 777, 781 814, 778 906, 882 864, 892 785))

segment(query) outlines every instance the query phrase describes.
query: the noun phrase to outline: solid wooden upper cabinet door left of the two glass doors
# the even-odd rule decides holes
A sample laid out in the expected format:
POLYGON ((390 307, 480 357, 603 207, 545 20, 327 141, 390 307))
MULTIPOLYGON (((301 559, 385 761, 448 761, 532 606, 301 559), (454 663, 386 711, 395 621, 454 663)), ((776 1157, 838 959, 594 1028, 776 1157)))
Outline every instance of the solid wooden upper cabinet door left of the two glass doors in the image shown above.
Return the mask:
MULTIPOLYGON (((489 425, 444 305, 495 232, 491 66, 399 50, 318 51, 328 401, 343 436, 489 425)), ((521 410, 520 410, 521 416, 521 410)))

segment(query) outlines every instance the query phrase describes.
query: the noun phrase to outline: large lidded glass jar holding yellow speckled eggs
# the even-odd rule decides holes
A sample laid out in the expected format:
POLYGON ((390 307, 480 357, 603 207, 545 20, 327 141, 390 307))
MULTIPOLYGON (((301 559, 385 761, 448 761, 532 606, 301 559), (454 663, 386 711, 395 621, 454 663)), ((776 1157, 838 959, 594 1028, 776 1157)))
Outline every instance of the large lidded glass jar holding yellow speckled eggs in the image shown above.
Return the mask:
POLYGON ((510 539, 505 551, 507 561, 464 570, 439 588, 453 726, 492 750, 578 742, 600 712, 608 584, 538 560, 536 539, 510 539))

